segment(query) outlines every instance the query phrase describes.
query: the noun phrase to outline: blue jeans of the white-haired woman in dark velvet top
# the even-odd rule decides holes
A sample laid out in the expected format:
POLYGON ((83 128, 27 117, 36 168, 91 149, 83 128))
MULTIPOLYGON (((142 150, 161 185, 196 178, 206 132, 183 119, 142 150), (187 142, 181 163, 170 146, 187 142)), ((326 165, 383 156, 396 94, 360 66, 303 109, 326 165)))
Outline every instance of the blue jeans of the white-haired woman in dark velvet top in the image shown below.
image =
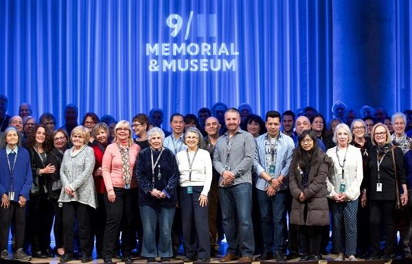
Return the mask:
POLYGON ((143 246, 141 256, 146 258, 163 256, 171 257, 172 252, 172 222, 174 207, 140 206, 143 224, 143 246), (159 222, 159 247, 156 249, 156 225, 159 222))

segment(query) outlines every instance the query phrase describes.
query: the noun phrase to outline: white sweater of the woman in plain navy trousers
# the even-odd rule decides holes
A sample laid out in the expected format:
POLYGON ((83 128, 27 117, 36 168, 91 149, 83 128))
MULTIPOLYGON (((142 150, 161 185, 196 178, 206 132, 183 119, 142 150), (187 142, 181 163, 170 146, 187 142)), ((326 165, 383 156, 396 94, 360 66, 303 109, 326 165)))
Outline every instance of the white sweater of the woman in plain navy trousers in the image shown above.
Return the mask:
MULTIPOLYGON (((194 152, 189 152, 190 162, 192 162, 194 152)), ((192 165, 192 179, 189 181, 189 161, 185 150, 176 154, 177 165, 179 166, 181 187, 203 186, 202 193, 209 193, 211 184, 211 158, 205 149, 198 149, 192 165)))

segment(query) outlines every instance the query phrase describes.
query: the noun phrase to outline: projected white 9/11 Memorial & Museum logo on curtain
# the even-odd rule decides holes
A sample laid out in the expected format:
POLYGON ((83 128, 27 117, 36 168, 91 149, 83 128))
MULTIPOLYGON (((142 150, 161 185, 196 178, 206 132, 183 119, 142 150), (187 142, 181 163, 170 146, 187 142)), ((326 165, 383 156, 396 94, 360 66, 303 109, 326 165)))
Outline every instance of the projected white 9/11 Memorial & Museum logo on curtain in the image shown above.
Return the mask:
POLYGON ((235 43, 207 42, 217 37, 216 14, 194 14, 187 21, 179 14, 170 14, 165 25, 172 32, 169 43, 146 43, 146 56, 150 56, 149 71, 236 71, 235 43), (192 30, 192 27, 195 27, 192 30), (209 29, 209 30, 205 30, 209 29), (179 38, 179 34, 182 34, 179 38), (196 34, 189 39, 190 34, 196 34), (178 42, 178 38, 184 41, 178 42), (191 42, 193 39, 201 39, 191 42), (157 58, 153 58, 153 57, 157 58), (167 57, 167 58, 164 58, 167 57))

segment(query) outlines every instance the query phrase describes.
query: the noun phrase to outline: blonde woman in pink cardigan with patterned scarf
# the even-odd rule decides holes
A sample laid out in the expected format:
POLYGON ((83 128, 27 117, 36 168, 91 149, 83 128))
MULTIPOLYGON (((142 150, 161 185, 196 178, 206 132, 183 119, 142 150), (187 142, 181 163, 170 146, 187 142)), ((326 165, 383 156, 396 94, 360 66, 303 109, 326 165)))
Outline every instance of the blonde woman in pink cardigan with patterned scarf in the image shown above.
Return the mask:
POLYGON ((133 222, 139 213, 137 197, 139 193, 137 179, 133 170, 140 147, 133 143, 132 128, 128 121, 122 120, 115 126, 114 143, 106 147, 102 162, 102 173, 106 193, 106 228, 104 230, 103 259, 104 263, 112 263, 115 241, 122 226, 123 261, 132 262, 130 252, 135 246, 133 222))

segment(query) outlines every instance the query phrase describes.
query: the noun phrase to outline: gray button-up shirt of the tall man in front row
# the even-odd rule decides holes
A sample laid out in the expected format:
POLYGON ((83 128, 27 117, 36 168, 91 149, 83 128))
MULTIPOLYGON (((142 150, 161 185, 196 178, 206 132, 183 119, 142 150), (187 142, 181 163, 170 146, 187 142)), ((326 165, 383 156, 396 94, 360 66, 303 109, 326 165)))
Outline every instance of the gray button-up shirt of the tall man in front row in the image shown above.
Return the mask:
POLYGON ((255 140, 252 134, 241 129, 231 139, 229 139, 229 131, 222 134, 216 143, 213 158, 213 166, 220 175, 219 186, 231 187, 244 182, 252 183, 251 168, 254 157, 255 140), (222 186, 222 173, 227 170, 226 165, 236 178, 232 184, 222 186))

